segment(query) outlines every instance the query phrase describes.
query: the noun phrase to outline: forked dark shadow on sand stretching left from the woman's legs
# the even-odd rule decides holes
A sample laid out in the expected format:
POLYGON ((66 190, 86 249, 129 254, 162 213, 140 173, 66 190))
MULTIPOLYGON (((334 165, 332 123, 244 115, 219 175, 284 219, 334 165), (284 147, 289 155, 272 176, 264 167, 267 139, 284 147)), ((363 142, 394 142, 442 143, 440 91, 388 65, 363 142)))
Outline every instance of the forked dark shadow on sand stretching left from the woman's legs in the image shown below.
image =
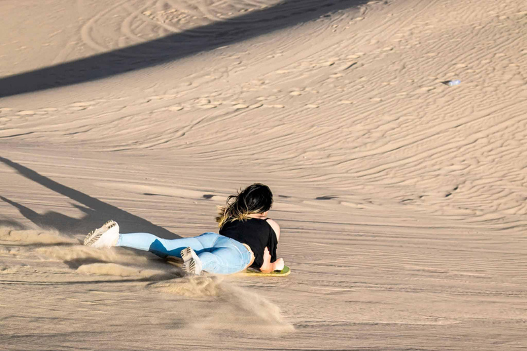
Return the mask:
POLYGON ((54 228, 60 232, 65 233, 71 233, 75 231, 87 233, 89 230, 93 230, 96 227, 102 226, 102 223, 108 221, 109 219, 114 219, 117 221, 117 223, 119 223, 121 232, 150 232, 165 239, 179 238, 179 236, 176 234, 166 230, 165 228, 156 226, 154 223, 147 221, 146 219, 132 215, 132 213, 121 210, 121 208, 106 204, 106 202, 96 199, 95 197, 91 197, 90 195, 86 195, 85 193, 81 193, 80 191, 72 189, 69 186, 62 185, 54 180, 51 180, 50 178, 47 178, 45 175, 41 175, 40 173, 20 165, 19 163, 13 162, 8 158, 3 158, 0 156, 0 162, 3 162, 8 167, 18 171, 19 174, 23 175, 25 178, 86 206, 83 207, 73 204, 73 206, 79 208, 85 213, 82 219, 76 219, 62 215, 61 213, 56 213, 54 211, 49 211, 44 215, 40 215, 34 210, 18 204, 11 199, 1 197, 4 202, 7 202, 8 204, 18 208, 24 217, 41 228, 54 228), (123 228, 124 230, 122 230, 123 228))

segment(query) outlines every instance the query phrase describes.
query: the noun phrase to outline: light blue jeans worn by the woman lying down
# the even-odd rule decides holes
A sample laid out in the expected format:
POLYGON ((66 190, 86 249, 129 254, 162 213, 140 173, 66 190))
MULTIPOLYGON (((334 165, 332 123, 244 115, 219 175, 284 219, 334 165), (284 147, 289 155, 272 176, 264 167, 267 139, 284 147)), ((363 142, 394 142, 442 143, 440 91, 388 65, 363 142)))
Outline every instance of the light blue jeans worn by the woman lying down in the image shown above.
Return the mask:
POLYGON ((162 239, 150 233, 119 234, 116 246, 150 251, 157 256, 181 257, 181 250, 192 247, 200 258, 202 270, 214 274, 233 274, 242 271, 250 263, 250 252, 234 239, 215 232, 198 237, 162 239))

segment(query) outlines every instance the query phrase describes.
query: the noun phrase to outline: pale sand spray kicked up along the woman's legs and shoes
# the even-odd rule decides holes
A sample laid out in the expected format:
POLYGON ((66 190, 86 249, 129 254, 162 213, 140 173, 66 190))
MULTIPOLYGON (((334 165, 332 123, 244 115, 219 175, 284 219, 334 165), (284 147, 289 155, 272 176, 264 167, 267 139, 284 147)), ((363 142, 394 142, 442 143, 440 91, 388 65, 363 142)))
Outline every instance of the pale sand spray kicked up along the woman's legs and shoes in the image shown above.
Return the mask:
MULTIPOLYGON (((27 246, 32 253, 65 262, 80 274, 161 280, 148 287, 187 298, 209 300, 206 313, 189 316, 191 328, 251 334, 280 334, 294 330, 283 319, 277 305, 257 293, 236 287, 232 280, 224 281, 222 276, 180 278, 180 271, 163 263, 152 262, 147 256, 115 248, 99 250, 79 245, 77 239, 64 237, 58 232, 0 228, 0 241, 27 246), (40 247, 30 248, 32 245, 40 247), (174 276, 178 278, 174 279, 174 276), (167 277, 172 279, 166 280, 167 277)), ((4 271, 8 268, 0 267, 4 271)))

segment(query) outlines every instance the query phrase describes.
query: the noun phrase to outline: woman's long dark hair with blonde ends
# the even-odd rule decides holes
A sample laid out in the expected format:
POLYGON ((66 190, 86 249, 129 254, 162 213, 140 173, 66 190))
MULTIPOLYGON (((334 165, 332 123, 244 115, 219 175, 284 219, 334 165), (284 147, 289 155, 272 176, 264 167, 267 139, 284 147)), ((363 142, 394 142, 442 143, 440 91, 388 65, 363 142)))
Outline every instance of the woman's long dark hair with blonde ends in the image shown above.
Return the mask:
POLYGON ((225 206, 220 206, 216 221, 222 226, 228 221, 244 221, 252 213, 265 213, 272 206, 269 186, 255 183, 239 191, 238 195, 227 197, 225 206))

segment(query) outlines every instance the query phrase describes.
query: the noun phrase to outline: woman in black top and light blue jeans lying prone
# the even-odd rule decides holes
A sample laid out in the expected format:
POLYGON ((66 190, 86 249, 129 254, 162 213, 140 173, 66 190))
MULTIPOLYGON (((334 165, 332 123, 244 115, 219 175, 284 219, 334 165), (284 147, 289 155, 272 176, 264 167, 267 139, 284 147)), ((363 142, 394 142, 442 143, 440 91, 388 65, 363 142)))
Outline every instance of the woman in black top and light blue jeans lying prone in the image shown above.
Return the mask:
POLYGON ((277 259, 280 227, 267 218, 271 206, 271 190, 256 183, 229 196, 225 206, 220 207, 216 217, 220 234, 206 232, 198 237, 167 240, 149 233, 119 234, 119 225, 108 221, 88 234, 84 245, 124 246, 163 258, 177 256, 183 258, 183 270, 189 274, 233 274, 248 267, 268 273, 283 269, 283 259, 277 259))

